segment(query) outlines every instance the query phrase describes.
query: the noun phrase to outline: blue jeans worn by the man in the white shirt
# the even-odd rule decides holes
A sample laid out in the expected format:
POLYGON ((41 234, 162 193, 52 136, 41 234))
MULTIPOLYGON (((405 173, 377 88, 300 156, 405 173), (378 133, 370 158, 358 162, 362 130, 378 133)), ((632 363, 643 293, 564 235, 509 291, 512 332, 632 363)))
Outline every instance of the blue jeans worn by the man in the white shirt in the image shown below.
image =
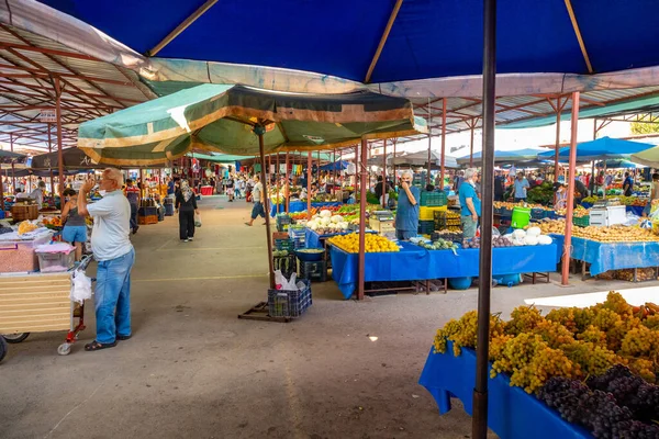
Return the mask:
POLYGON ((114 342, 118 335, 131 335, 131 269, 135 250, 99 262, 96 285, 97 338, 100 344, 114 342))

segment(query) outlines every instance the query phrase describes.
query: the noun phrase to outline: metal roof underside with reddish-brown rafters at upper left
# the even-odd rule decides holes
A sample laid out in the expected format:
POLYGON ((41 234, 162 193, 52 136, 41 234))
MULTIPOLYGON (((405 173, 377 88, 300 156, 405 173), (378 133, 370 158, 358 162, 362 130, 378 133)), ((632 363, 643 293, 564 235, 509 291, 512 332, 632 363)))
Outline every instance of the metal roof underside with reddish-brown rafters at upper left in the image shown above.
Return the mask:
POLYGON ((47 150, 49 127, 56 147, 55 124, 38 119, 55 109, 55 77, 62 85, 64 146, 76 144, 79 123, 155 97, 133 71, 0 24, 0 142, 47 150))

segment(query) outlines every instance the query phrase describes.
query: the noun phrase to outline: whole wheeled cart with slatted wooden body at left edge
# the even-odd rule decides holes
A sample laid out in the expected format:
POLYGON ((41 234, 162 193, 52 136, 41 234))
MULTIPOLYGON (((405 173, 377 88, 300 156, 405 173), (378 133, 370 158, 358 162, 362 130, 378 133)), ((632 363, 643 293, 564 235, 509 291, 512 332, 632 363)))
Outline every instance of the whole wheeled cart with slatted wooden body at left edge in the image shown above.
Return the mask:
POLYGON ((68 330, 57 353, 68 356, 78 334, 85 330, 85 304, 71 302, 75 275, 83 274, 92 257, 62 273, 0 275, 0 361, 8 344, 24 341, 32 333, 68 330))

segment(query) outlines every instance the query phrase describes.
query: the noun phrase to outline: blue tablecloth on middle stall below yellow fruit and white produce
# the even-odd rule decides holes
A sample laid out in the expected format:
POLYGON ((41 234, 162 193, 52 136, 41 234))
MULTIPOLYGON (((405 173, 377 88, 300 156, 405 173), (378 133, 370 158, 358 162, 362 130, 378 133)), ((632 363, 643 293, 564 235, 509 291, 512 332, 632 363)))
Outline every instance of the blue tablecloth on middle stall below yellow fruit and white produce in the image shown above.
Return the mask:
MULTIPOLYGON (((478 277, 478 249, 426 250, 411 243, 400 243, 401 251, 366 254, 366 282, 418 281, 478 277)), ((357 285, 358 255, 335 246, 330 250, 332 278, 345 299, 350 299, 357 285)), ((556 271, 556 244, 547 246, 498 247, 492 252, 492 274, 517 274, 556 271)))

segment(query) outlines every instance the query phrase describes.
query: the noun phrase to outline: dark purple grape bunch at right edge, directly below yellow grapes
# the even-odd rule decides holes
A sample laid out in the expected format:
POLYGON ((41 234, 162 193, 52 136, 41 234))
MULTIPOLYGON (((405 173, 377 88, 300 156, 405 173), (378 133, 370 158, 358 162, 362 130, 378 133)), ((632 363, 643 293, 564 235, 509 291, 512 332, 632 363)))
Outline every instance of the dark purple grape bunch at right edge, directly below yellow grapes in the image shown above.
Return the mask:
POLYGON ((592 390, 612 394, 635 419, 644 423, 659 419, 659 386, 635 375, 625 365, 614 365, 603 375, 589 378, 585 383, 592 390))

